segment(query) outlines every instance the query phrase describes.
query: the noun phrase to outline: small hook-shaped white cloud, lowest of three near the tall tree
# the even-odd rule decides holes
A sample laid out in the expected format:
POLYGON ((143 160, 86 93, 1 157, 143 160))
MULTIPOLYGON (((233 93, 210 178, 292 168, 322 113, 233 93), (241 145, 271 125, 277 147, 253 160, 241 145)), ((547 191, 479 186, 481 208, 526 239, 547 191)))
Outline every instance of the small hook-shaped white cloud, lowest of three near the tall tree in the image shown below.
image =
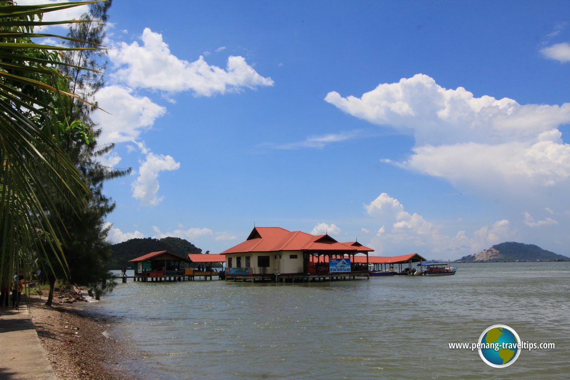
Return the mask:
POLYGON ((133 198, 139 199, 141 205, 156 206, 163 197, 158 197, 158 173, 164 170, 177 170, 180 163, 171 156, 146 154, 146 159, 139 168, 139 177, 132 183, 133 198))

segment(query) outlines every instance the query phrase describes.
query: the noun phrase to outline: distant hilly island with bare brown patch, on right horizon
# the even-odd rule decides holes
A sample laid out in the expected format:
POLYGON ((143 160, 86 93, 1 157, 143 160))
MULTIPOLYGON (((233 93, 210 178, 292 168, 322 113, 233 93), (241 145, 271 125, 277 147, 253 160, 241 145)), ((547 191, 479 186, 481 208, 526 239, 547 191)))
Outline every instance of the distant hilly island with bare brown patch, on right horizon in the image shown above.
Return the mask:
POLYGON ((567 256, 543 250, 534 244, 506 242, 495 244, 487 250, 475 255, 463 256, 459 260, 463 263, 476 263, 482 261, 570 261, 567 256))

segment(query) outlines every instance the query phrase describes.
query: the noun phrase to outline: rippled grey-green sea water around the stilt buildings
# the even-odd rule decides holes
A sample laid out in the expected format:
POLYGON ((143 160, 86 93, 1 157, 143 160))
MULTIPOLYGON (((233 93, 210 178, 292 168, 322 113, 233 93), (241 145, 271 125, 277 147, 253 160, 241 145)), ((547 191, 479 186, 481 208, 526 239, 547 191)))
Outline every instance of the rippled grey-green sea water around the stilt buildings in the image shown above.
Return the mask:
POLYGON ((129 279, 84 308, 140 352, 120 364, 142 380, 570 378, 570 262, 453 265, 321 283, 129 279), (495 324, 555 348, 502 369, 449 348, 495 324))

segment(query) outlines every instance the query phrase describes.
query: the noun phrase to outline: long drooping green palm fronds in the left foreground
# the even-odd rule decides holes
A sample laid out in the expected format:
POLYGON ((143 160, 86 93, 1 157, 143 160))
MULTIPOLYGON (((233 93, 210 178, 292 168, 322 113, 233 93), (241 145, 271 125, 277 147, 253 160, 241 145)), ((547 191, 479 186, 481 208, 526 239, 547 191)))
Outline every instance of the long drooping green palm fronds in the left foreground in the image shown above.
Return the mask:
MULTIPOLYGON (((37 252, 47 269, 67 268, 60 238, 66 234, 59 207, 76 212, 89 189, 59 144, 63 104, 79 99, 67 87, 58 67, 58 51, 78 48, 48 46, 32 38, 63 36, 34 33, 48 11, 90 2, 17 6, 0 1, 0 277, 19 271, 22 253, 37 252)), ((95 50, 85 46, 79 49, 95 50)), ((62 119, 63 116, 63 119, 62 119)), ((29 264, 29 263, 27 263, 29 264)))

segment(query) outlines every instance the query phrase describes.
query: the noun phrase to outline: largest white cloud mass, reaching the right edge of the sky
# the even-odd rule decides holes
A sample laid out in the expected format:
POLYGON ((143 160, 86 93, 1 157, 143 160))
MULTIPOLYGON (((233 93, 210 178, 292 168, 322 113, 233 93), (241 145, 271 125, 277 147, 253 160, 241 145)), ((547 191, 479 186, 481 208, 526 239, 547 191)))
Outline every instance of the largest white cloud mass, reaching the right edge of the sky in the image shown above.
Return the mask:
POLYGON ((570 122, 570 103, 520 105, 507 98, 475 97, 422 74, 380 84, 361 97, 329 92, 325 101, 414 136, 408 160, 384 162, 494 198, 517 197, 519 203, 521 197, 539 202, 553 189, 570 190, 570 145, 558 129, 570 122))

